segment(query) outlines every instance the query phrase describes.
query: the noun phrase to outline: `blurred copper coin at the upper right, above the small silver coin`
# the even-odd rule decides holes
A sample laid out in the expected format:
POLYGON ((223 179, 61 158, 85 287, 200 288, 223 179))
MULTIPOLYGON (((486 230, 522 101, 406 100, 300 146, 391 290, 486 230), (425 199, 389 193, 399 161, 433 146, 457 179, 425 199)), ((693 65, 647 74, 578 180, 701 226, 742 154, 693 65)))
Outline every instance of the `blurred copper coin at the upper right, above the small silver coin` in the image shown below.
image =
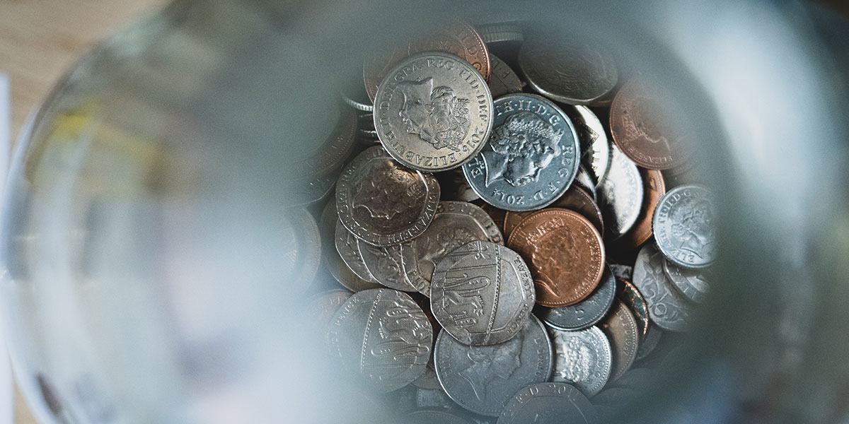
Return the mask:
POLYGON ((649 170, 668 170, 689 157, 683 110, 645 77, 628 81, 610 106, 610 132, 625 155, 649 170))

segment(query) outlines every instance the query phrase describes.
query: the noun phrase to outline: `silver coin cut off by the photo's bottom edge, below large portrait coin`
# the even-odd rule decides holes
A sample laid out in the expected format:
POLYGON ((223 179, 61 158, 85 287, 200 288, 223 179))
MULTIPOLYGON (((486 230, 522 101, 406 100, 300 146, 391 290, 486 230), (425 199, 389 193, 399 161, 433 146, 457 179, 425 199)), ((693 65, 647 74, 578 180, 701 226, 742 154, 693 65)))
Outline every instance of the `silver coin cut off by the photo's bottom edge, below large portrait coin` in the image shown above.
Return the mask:
POLYGON ((498 424, 595 424, 598 413, 581 391, 563 382, 521 389, 504 408, 498 424))

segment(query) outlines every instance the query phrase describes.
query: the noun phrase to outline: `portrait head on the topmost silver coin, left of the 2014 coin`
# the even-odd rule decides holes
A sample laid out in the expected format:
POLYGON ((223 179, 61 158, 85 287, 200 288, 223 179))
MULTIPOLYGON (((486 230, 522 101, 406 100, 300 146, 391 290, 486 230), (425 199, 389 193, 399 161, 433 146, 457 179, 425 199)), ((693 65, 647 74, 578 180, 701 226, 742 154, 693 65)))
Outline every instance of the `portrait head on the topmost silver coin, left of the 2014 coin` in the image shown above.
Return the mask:
POLYGON ((471 126, 469 99, 458 98, 449 86, 433 85, 433 78, 398 83, 397 89, 403 94, 398 115, 404 131, 418 135, 436 149, 459 151, 471 126))

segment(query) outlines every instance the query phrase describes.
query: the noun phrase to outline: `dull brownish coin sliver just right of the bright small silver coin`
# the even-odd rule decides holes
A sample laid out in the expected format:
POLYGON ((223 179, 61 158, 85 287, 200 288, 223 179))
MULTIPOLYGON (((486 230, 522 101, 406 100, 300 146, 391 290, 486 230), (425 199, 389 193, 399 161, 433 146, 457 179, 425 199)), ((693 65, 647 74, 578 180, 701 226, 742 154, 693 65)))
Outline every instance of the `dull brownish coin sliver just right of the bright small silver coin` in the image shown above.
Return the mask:
POLYGON ((610 381, 619 378, 637 359, 639 347, 639 329, 633 314, 625 304, 616 301, 610 314, 604 317, 599 327, 610 340, 610 349, 613 350, 613 371, 610 372, 610 381))

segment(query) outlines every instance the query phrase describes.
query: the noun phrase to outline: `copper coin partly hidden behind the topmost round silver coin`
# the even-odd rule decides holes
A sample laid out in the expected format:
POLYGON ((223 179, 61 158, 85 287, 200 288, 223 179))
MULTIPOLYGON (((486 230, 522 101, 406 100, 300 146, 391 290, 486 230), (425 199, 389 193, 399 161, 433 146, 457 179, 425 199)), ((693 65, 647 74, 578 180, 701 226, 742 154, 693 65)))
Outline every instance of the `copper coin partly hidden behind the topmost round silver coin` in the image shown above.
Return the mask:
POLYGON ((413 42, 396 44, 366 60, 363 66, 363 80, 368 98, 374 101, 380 81, 383 81, 395 64, 415 53, 423 52, 451 53, 469 62, 481 73, 483 79, 489 82, 491 66, 489 51, 486 50, 486 44, 481 35, 472 25, 454 20, 433 34, 419 37, 413 42))

